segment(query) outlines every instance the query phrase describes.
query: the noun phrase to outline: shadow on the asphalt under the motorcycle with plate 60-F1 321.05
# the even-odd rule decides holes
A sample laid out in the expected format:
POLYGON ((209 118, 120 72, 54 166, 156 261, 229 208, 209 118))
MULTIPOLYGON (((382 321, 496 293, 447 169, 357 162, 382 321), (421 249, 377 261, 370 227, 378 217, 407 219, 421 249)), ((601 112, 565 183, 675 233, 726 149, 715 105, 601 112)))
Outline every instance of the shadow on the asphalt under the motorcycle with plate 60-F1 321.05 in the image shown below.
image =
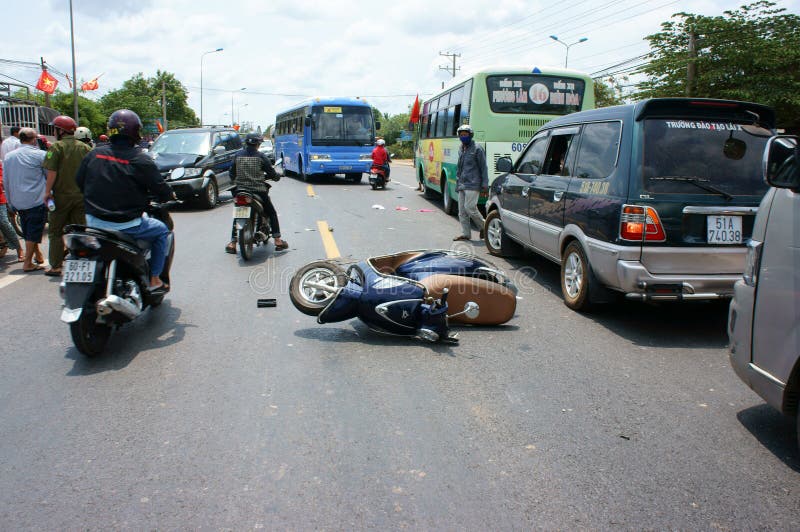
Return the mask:
POLYGON ((178 323, 181 310, 167 299, 155 309, 148 309, 133 323, 123 325, 111 335, 105 353, 86 357, 74 346, 65 357, 75 361, 67 373, 71 377, 116 371, 126 367, 140 353, 177 344, 186 336, 186 329, 196 325, 178 323))

